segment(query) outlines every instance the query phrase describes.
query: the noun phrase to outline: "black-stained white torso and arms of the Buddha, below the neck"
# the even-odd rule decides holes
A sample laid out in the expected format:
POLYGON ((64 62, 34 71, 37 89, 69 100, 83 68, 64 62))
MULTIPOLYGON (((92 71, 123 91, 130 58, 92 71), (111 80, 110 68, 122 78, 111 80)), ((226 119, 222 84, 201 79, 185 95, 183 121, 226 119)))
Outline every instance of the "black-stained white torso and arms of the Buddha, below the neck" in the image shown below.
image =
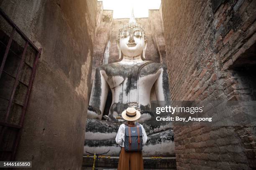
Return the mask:
POLYGON ((169 84, 166 66, 152 61, 135 65, 121 62, 109 63, 96 69, 88 107, 88 118, 101 119, 108 90, 112 92, 112 104, 108 116, 115 119, 127 109, 135 107, 143 114, 151 113, 151 90, 156 100, 169 100, 169 84))

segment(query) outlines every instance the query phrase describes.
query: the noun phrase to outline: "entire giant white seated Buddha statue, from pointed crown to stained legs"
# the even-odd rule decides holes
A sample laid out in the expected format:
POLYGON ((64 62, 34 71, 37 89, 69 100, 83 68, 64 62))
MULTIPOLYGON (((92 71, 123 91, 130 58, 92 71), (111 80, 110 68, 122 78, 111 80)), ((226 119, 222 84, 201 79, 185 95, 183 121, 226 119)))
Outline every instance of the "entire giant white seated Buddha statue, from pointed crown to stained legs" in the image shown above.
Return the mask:
POLYGON ((117 46, 120 61, 97 67, 95 72, 87 112, 84 155, 108 152, 110 156, 118 156, 120 147, 116 145, 115 135, 123 120, 117 118, 128 107, 134 107, 141 112, 136 122, 143 124, 148 135, 143 156, 152 157, 159 153, 174 156, 171 124, 156 123, 156 115, 151 112, 156 103, 151 106, 151 101, 169 100, 167 69, 164 64, 146 60, 146 33, 136 23, 133 13, 129 23, 119 29, 117 46), (109 90, 112 103, 107 116, 103 113, 109 90))

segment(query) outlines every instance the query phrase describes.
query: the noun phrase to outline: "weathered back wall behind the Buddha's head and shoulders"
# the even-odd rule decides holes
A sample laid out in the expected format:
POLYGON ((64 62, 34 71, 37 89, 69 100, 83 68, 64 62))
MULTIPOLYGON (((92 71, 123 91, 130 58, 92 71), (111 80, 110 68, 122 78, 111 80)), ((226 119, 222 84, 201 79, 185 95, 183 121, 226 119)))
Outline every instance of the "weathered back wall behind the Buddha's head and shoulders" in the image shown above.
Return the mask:
MULTIPOLYGON (((136 22, 143 25, 146 30, 148 42, 146 60, 163 63, 166 65, 166 51, 161 7, 159 10, 148 10, 148 14, 148 18, 136 18, 136 22)), ((113 18, 113 10, 103 10, 102 1, 98 1, 97 29, 95 30, 91 84, 95 77, 95 70, 98 66, 119 61, 118 48, 116 44, 116 40, 118 39, 118 30, 120 27, 122 27, 122 25, 128 23, 128 21, 129 18, 113 18), (105 59, 106 52, 108 55, 108 60, 105 59)), ((111 95, 112 94, 110 91, 104 114, 108 114, 111 106, 111 95)))

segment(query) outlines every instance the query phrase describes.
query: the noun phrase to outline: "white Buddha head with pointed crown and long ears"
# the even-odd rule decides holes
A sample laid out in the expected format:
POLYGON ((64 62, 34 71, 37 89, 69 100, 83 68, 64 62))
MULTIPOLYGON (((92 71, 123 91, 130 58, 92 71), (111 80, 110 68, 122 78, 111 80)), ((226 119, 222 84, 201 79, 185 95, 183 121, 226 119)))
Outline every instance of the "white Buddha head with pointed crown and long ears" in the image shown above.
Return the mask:
POLYGON ((119 60, 122 54, 128 57, 141 55, 145 60, 147 47, 146 33, 143 27, 136 23, 133 12, 128 24, 119 29, 117 46, 119 51, 119 60))

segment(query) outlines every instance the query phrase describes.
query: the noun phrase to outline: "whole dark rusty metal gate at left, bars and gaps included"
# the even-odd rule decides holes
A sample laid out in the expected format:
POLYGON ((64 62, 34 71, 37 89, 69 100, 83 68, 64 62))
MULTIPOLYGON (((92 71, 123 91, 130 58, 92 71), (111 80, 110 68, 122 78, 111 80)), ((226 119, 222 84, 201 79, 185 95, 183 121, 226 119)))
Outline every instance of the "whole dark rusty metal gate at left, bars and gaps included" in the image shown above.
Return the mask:
POLYGON ((41 49, 2 9, 0 23, 0 160, 8 161, 15 160, 41 49))

